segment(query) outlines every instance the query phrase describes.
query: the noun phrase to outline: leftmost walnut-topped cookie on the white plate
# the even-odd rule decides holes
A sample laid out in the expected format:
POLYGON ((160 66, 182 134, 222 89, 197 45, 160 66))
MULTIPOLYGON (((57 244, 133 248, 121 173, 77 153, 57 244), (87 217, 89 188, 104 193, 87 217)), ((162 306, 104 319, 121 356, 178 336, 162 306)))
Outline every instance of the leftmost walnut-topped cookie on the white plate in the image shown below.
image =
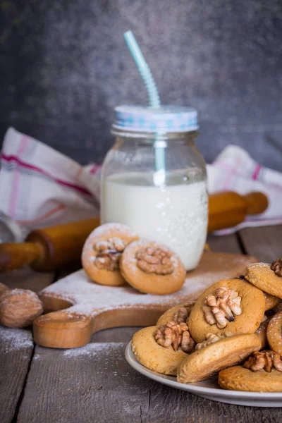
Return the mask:
POLYGON ((137 331, 132 340, 133 353, 147 369, 176 375, 177 367, 194 348, 186 324, 170 321, 166 325, 149 326, 137 331))

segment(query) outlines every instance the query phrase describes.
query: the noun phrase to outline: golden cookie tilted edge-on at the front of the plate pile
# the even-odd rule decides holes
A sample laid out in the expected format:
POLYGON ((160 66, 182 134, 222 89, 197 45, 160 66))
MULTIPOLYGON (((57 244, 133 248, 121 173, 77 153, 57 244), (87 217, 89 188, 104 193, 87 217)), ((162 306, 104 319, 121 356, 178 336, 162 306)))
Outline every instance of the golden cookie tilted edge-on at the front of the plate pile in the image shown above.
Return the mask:
POLYGON ((254 333, 223 338, 188 355, 178 367, 177 380, 187 384, 209 379, 221 369, 240 363, 260 346, 254 333))

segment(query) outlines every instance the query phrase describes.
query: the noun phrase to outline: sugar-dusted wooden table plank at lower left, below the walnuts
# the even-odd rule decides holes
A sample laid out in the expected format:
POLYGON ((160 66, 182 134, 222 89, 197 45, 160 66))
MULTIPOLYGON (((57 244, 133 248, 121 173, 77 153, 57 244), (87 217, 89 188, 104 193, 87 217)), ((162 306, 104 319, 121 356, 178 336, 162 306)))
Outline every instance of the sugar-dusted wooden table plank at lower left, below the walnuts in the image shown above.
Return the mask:
POLYGON ((31 331, 0 325, 0 422, 11 422, 32 356, 31 331))

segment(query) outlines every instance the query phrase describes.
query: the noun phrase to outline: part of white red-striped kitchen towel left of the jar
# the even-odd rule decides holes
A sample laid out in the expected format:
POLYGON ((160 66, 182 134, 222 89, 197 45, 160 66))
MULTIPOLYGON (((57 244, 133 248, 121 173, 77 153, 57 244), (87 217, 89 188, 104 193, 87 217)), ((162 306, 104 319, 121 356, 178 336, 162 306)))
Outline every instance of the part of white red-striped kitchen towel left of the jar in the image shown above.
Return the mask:
POLYGON ((9 128, 1 152, 0 211, 30 231, 99 214, 100 166, 80 166, 9 128))

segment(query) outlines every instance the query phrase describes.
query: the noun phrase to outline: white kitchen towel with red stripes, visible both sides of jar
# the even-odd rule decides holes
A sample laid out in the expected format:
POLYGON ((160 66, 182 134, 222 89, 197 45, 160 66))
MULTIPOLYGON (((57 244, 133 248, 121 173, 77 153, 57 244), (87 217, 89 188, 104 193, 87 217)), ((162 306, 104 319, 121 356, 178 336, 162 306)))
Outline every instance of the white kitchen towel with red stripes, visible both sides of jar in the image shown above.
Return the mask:
MULTIPOLYGON (((264 168, 244 149, 231 145, 207 166, 209 193, 262 191, 269 197, 264 214, 248 216, 245 226, 282 223, 282 174, 264 168)), ((0 211, 25 231, 78 221, 99 214, 101 166, 81 166, 32 137, 9 128, 0 170, 0 211)))

